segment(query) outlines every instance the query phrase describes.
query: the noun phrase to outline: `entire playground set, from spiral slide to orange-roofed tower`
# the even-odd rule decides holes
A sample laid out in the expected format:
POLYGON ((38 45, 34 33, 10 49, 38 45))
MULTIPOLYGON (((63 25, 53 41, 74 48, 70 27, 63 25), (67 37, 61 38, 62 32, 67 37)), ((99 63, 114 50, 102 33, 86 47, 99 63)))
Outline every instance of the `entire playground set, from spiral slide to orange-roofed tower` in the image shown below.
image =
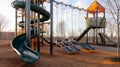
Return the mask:
MULTIPOLYGON (((12 3, 12 6, 16 9, 16 24, 18 22, 17 14, 19 11, 25 12, 25 16, 22 14, 21 19, 18 23, 18 26, 24 29, 22 31, 21 35, 17 35, 17 25, 16 25, 16 37, 12 40, 11 45, 13 50, 19 55, 20 59, 26 63, 34 63, 40 58, 40 39, 44 40, 48 44, 50 44, 50 55, 53 54, 53 2, 58 5, 64 5, 70 6, 73 11, 73 9, 77 9, 79 11, 87 12, 87 15, 85 17, 86 20, 86 29, 80 34, 80 36, 75 36, 72 27, 72 38, 76 38, 75 42, 69 42, 69 41, 58 41, 58 45, 62 47, 66 52, 68 53, 77 53, 80 51, 78 47, 76 47, 76 44, 80 45, 82 48, 86 50, 93 50, 94 48, 90 46, 89 44, 89 34, 88 31, 93 29, 93 42, 92 44, 98 44, 98 29, 103 29, 103 34, 105 33, 105 27, 106 27, 106 19, 105 19, 105 8, 100 5, 96 0, 88 7, 87 10, 83 8, 73 7, 72 5, 67 5, 62 2, 57 1, 50 1, 50 14, 48 11, 40 7, 46 0, 16 0, 12 3), (99 13, 103 13, 102 17, 99 17, 99 13), (40 17, 42 15, 42 18, 40 17), (92 17, 89 15, 92 15, 92 17), (36 18, 37 17, 37 18, 36 18), (43 36, 44 29, 44 21, 47 21, 50 19, 50 41, 48 41, 43 36), (41 23, 40 23, 41 22, 41 23), (41 26, 41 28, 40 28, 41 26), (86 35, 87 34, 87 35, 86 35), (82 43, 81 39, 86 35, 86 43, 82 43), (34 40, 34 41, 32 41, 34 40), (32 48, 33 46, 33 48, 32 48), (34 50, 33 50, 34 49, 34 50)), ((65 13, 65 12, 64 12, 65 13)), ((66 11, 67 13, 67 11, 66 11)), ((60 13, 62 14, 62 13, 60 13)), ((56 15, 58 15, 58 12, 56 11, 56 15)), ((74 15, 74 13, 71 12, 71 17, 74 15)), ((65 17, 61 17, 63 20, 65 17)), ((72 17, 73 18, 73 17, 72 17)), ((74 17, 75 18, 75 17, 74 17)), ((57 23, 58 23, 58 16, 57 16, 57 23)), ((73 21, 72 19, 72 25, 73 22, 77 22, 76 20, 73 21)), ((65 23, 65 22, 64 22, 65 23)), ((63 24, 64 24, 63 23, 63 24)), ((61 26, 62 28, 62 26, 61 26)), ((63 28, 64 29, 64 28, 63 28)), ((63 29, 61 29, 61 38, 65 36, 66 33, 62 33, 63 29), (64 35, 64 36, 63 36, 64 35)), ((65 36, 66 37, 66 36, 65 36)), ((102 43, 105 44, 105 35, 102 36, 102 43)), ((65 39, 65 38, 63 38, 65 39)), ((70 38, 71 39, 71 38, 70 38)), ((108 39, 108 38, 107 38, 108 39)), ((110 39, 108 39, 110 40, 110 39)))

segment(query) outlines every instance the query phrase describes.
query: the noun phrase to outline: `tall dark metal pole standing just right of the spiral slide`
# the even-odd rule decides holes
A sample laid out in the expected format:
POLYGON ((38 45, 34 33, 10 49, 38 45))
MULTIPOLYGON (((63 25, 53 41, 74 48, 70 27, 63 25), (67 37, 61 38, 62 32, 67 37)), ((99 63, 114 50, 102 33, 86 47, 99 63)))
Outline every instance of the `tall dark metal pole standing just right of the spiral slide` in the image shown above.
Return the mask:
POLYGON ((50 55, 53 55, 53 0, 50 0, 51 27, 50 27, 50 55))

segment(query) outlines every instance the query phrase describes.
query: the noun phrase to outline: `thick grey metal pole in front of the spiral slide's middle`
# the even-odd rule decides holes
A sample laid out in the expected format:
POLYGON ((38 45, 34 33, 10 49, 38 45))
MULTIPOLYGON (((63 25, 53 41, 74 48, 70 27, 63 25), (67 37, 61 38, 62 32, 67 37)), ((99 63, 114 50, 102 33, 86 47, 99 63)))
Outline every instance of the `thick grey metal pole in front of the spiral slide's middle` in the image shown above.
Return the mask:
POLYGON ((31 46, 30 4, 30 0, 26 0, 26 40, 29 47, 31 46))

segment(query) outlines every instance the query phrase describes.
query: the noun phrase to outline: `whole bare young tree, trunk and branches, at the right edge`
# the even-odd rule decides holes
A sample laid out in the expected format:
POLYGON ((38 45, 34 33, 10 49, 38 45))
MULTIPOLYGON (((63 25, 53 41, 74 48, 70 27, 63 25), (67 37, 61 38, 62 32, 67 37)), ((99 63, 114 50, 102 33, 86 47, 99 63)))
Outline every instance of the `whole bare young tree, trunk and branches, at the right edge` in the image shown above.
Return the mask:
POLYGON ((119 44, 120 44, 120 0, 104 0, 104 2, 108 5, 108 11, 110 11, 110 14, 112 18, 114 19, 114 22, 116 23, 115 30, 116 34, 118 34, 118 44, 117 44, 117 56, 120 56, 119 54, 119 44))

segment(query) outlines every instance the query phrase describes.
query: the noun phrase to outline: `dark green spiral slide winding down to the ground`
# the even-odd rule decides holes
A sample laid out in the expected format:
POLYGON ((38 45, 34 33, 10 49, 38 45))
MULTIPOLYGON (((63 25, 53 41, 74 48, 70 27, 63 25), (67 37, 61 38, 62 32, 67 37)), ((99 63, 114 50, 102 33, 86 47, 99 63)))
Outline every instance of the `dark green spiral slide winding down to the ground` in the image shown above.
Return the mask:
MULTIPOLYGON (((12 2, 12 6, 14 8, 24 9, 25 8, 25 2, 24 1, 14 1, 14 2, 12 2)), ((39 13, 43 16, 42 18, 40 18, 41 22, 46 21, 50 18, 50 14, 46 10, 44 10, 43 8, 41 8, 39 6, 31 4, 31 10, 34 11, 34 12, 37 12, 37 13, 39 13)), ((31 20, 31 24, 33 24, 33 21, 34 20, 31 20)), ((23 23, 24 22, 20 22, 19 26, 24 27, 23 23)), ((32 29, 31 38, 35 37, 34 33, 33 33, 33 30, 36 30, 36 29, 32 29)), ((39 58, 40 58, 40 53, 39 52, 36 52, 36 51, 32 50, 31 48, 29 48, 27 46, 26 34, 22 34, 20 36, 17 36, 16 38, 14 38, 11 42, 11 46, 12 46, 12 49, 19 55, 20 59, 23 62, 34 63, 37 60, 39 60, 39 58)))

